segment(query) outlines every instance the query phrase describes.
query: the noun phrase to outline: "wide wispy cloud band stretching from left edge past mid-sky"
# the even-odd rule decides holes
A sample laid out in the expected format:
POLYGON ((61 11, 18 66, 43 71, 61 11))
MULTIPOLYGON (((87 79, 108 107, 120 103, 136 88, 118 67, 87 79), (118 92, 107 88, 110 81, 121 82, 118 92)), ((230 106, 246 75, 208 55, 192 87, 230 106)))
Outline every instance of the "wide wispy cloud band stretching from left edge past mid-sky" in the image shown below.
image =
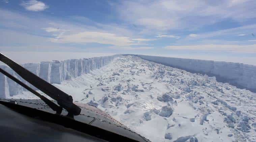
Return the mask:
MULTIPOLYGON (((2 46, 11 46, 14 44, 20 45, 21 43, 24 45, 27 43, 31 46, 42 45, 40 47, 44 48, 47 46, 53 47, 54 45, 70 46, 70 44, 62 43, 72 43, 73 45, 76 44, 85 48, 87 47, 87 45, 85 45, 87 43, 97 45, 97 47, 106 47, 111 45, 133 46, 147 45, 139 42, 153 40, 146 38, 134 38, 139 36, 134 36, 129 29, 118 25, 100 24, 97 22, 91 22, 87 25, 87 23, 80 24, 78 22, 70 22, 68 20, 60 21, 47 16, 31 18, 25 14, 2 9, 0 9, 0 13, 2 13, 0 14, 1 24, 8 27, 8 29, 4 31, 0 30, 0 33, 2 33, 0 34, 2 46), (30 26, 28 27, 27 25, 30 26), (9 29, 19 30, 12 32, 12 30, 9 29), (42 30, 44 32, 42 32, 42 30)), ((17 50, 19 48, 20 46, 13 47, 12 50, 17 50)), ((23 47, 21 47, 21 49, 22 48, 23 47)), ((0 47, 0 49, 2 48, 0 47)), ((30 48, 30 50, 33 50, 33 48, 30 48)), ((55 49, 52 48, 51 50, 55 49)), ((64 50, 65 48, 63 48, 63 51, 64 50)))

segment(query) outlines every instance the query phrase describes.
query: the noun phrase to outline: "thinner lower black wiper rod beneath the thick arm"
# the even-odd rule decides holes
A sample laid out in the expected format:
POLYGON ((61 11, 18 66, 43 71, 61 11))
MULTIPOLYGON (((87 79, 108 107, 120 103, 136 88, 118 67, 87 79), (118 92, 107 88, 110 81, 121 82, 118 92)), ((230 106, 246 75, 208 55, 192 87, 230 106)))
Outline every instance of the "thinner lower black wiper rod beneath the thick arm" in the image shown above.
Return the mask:
POLYGON ((44 101, 52 110, 56 111, 57 114, 61 114, 62 112, 62 107, 56 105, 54 102, 50 101, 49 99, 47 99, 45 96, 42 96, 41 94, 39 94, 38 92, 36 92, 35 90, 33 90, 31 87, 29 87, 28 85, 26 85, 25 83, 21 82, 19 79, 15 78, 14 76, 10 75, 8 72, 6 72, 5 70, 0 68, 0 72, 2 74, 4 74, 5 76, 9 77, 11 80, 17 82, 18 84, 20 84, 22 87, 26 88, 28 91, 30 91, 31 93, 35 94, 37 97, 39 97, 42 101, 44 101))

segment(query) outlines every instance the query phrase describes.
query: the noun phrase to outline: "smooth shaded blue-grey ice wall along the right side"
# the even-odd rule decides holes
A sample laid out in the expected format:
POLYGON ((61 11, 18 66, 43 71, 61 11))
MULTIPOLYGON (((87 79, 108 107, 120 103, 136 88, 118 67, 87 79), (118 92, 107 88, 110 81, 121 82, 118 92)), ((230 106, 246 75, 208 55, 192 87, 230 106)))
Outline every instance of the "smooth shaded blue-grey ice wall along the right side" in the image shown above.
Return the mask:
POLYGON ((252 92, 256 92, 256 66, 254 65, 146 55, 136 56, 193 73, 216 76, 218 81, 228 82, 239 88, 246 88, 252 92))

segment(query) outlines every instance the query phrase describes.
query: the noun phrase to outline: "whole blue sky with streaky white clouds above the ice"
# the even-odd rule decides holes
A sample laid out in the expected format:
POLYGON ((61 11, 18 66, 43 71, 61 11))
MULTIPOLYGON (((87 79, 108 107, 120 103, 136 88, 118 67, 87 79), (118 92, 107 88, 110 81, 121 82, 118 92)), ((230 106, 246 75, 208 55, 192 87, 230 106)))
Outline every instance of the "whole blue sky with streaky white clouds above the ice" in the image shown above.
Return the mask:
POLYGON ((0 51, 18 62, 84 53, 256 65, 255 7, 255 0, 0 0, 0 51))

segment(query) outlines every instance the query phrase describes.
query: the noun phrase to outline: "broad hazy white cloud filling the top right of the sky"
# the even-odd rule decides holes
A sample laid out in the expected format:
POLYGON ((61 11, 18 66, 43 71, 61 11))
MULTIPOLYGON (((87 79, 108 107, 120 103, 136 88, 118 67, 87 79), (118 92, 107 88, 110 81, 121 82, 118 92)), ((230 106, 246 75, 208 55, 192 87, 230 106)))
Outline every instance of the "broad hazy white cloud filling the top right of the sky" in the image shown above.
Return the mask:
MULTIPOLYGON (((114 4, 113 4, 114 5, 114 4)), ((244 22, 256 18, 255 0, 144 0, 123 1, 116 5, 120 18, 142 26, 142 31, 194 29, 232 19, 244 22)))

